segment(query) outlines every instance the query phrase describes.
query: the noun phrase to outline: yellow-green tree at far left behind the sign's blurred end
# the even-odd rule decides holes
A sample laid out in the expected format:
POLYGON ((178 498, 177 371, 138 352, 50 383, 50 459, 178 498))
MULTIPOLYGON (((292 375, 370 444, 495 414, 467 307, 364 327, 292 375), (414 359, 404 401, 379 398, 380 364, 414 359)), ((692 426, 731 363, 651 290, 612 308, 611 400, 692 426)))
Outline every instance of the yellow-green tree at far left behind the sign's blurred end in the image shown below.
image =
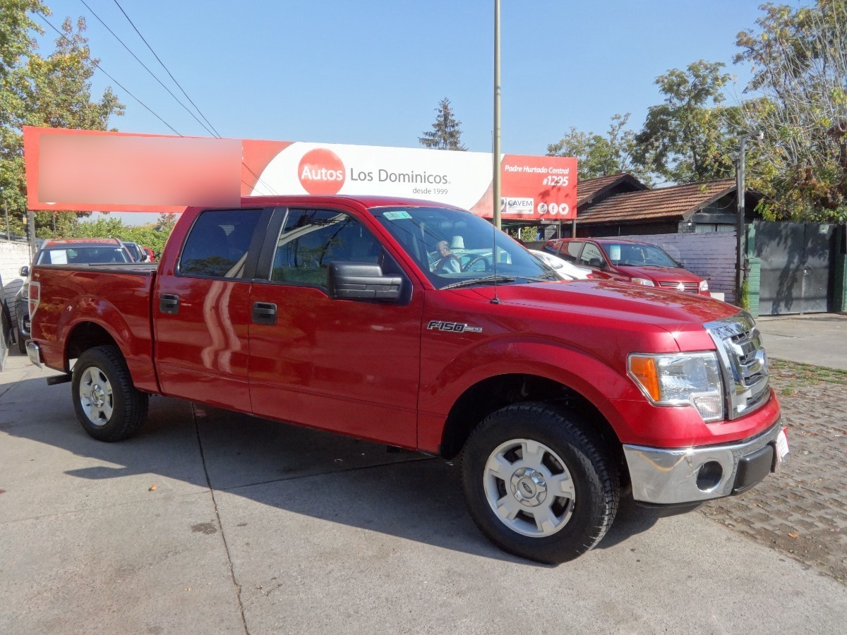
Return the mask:
MULTIPOLYGON (((36 0, 0 0, 0 187, 8 205, 13 233, 24 235, 27 209, 24 169, 24 125, 53 128, 106 130, 112 115, 124 106, 110 88, 91 98, 91 75, 97 60, 91 58, 83 36, 85 20, 74 27, 64 19, 62 36, 44 58, 36 52, 32 33, 42 33, 30 19, 32 13, 49 15, 36 0)), ((53 227, 67 230, 79 215, 89 213, 45 212, 36 214, 36 235, 53 235, 53 227)))

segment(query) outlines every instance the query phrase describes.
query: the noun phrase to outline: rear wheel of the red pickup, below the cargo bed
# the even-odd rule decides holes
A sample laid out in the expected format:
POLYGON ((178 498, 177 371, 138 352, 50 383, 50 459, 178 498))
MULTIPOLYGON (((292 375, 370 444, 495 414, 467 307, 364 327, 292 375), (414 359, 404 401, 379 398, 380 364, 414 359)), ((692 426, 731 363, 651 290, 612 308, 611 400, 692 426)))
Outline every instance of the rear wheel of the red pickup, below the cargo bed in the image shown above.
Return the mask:
POLYGON ((80 355, 71 385, 76 418, 98 441, 127 439, 147 418, 149 395, 136 390, 115 346, 97 346, 80 355))

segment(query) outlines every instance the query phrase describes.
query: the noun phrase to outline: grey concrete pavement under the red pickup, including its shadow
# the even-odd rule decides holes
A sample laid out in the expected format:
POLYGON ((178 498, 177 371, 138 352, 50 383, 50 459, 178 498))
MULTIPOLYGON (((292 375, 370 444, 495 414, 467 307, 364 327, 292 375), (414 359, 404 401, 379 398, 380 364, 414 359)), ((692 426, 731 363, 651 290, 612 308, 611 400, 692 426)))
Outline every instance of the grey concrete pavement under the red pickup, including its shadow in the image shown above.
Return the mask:
POLYGON ((134 439, 69 384, 0 373, 0 632, 843 632, 847 589, 701 513, 624 505, 538 566, 470 521, 457 468, 154 398, 134 439))

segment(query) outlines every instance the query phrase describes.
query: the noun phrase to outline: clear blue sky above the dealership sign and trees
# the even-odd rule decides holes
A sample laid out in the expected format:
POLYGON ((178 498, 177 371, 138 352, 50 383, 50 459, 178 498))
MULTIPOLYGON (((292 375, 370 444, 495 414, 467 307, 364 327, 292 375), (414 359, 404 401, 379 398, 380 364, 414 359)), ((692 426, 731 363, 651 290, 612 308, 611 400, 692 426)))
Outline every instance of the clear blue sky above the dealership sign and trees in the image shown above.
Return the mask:
MULTIPOLYGON (((219 135, 419 147, 451 100, 468 150, 490 152, 494 2, 223 2, 119 0, 219 135)), ((187 104, 113 0, 88 7, 187 104)), ((209 135, 91 14, 53 0, 50 21, 83 15, 92 54, 182 135, 209 135)), ((545 154, 571 126, 601 133, 615 113, 639 130, 661 102, 654 80, 706 59, 738 76, 735 35, 756 27, 760 0, 501 0, 502 152, 545 154)), ((796 6, 798 2, 791 2, 796 6)), ((55 32, 47 27, 47 52, 55 32)), ((173 134, 113 86, 125 132, 173 134)), ((141 220, 141 215, 138 215, 141 220)), ((126 217, 124 217, 126 218, 126 217)))

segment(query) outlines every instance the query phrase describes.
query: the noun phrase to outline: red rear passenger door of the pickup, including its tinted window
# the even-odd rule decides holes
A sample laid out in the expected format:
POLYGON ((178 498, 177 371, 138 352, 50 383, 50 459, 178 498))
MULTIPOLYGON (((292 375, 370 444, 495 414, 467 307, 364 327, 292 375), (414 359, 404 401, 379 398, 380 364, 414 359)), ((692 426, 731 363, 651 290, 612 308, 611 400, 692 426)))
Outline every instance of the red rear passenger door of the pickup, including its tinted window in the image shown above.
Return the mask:
POLYGON ((165 395, 251 411, 250 286, 271 212, 202 212, 174 273, 158 276, 152 310, 165 395))

